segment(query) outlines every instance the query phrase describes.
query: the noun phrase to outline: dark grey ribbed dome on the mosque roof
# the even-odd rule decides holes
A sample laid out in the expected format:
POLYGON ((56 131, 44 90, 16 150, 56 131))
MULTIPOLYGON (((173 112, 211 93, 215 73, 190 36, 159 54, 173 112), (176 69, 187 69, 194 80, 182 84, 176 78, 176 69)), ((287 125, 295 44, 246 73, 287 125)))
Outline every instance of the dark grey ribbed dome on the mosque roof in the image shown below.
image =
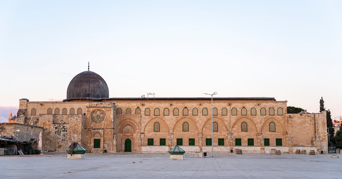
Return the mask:
POLYGON ((84 71, 76 75, 69 83, 67 99, 108 98, 109 91, 105 80, 95 72, 84 71))

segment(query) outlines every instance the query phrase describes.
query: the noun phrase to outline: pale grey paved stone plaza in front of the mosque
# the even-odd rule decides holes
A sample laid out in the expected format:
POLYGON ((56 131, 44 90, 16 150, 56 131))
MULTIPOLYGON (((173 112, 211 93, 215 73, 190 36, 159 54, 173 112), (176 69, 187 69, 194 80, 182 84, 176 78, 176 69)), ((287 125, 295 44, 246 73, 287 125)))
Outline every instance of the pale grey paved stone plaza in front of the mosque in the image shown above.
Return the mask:
POLYGON ((170 160, 168 153, 86 153, 0 156, 0 178, 341 178, 341 158, 330 155, 231 154, 170 160), (133 163, 135 162, 135 163, 133 163), (266 166, 266 167, 265 167, 266 166))

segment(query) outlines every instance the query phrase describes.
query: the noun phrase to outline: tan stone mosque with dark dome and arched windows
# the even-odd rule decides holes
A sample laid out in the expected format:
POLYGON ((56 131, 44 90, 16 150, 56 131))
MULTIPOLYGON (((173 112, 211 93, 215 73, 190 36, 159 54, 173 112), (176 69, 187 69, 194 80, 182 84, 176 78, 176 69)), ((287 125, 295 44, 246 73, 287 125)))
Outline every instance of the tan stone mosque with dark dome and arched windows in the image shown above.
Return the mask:
POLYGON ((74 142, 91 153, 186 152, 328 153, 326 112, 287 114, 274 97, 111 98, 105 80, 84 71, 61 102, 19 100, 16 123, 42 127, 43 151, 74 142), (211 122, 213 116, 213 122, 211 122), (212 125, 212 126, 211 126, 212 125), (213 138, 211 138, 213 130, 213 138))

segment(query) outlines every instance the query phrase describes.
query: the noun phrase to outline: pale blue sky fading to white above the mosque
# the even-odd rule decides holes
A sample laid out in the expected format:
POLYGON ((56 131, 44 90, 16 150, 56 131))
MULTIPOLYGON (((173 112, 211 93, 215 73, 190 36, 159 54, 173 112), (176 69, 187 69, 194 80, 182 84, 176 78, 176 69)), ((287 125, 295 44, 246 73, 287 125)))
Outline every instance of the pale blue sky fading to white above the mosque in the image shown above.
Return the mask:
POLYGON ((0 122, 101 75, 109 97, 275 97, 342 115, 342 1, 0 0, 0 122))

